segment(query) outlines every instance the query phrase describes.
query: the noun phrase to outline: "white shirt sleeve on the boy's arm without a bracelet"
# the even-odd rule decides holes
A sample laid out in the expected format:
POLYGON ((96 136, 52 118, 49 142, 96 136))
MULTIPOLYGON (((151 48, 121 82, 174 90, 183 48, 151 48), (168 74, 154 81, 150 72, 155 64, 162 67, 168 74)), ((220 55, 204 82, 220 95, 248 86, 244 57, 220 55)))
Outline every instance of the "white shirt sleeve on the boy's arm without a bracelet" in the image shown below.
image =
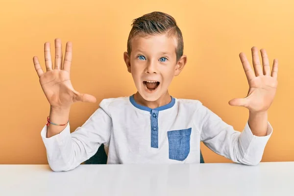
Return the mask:
POLYGON ((272 133, 270 123, 264 137, 254 136, 248 123, 242 132, 236 131, 203 105, 198 108, 195 119, 205 146, 233 162, 245 165, 257 165, 261 161, 272 133))

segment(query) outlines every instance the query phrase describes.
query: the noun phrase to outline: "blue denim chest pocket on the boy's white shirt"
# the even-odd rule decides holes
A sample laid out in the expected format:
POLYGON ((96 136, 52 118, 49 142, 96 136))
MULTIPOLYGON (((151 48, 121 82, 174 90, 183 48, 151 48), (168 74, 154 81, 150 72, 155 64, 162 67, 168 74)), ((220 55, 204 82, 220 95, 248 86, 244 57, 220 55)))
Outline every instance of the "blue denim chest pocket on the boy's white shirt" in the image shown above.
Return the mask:
POLYGON ((168 131, 169 159, 183 161, 190 152, 192 128, 168 131))

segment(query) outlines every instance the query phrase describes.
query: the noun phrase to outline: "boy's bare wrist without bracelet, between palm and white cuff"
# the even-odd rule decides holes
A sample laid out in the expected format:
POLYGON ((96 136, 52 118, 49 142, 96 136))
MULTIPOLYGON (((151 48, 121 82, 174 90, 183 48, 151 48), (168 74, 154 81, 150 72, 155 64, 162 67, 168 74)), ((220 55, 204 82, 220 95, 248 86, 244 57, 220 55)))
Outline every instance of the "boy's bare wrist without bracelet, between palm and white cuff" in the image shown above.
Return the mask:
POLYGON ((266 136, 268 130, 268 112, 249 111, 248 125, 255 136, 266 136))

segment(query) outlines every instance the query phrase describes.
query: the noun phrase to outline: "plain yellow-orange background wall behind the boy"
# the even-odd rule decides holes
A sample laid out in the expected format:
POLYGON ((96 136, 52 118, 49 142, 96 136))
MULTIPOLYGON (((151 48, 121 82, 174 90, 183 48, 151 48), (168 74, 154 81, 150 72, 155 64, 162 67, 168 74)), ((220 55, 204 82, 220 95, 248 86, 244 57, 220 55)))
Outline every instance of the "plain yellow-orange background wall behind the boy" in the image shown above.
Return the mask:
MULTIPOLYGON (((123 62, 133 19, 152 11, 171 14, 184 37, 188 63, 170 87, 176 98, 198 99, 226 123, 242 130, 248 111, 231 107, 248 86, 239 52, 250 48, 279 59, 278 90, 269 111, 274 132, 262 161, 294 161, 293 0, 1 0, 0 1, 0 164, 46 164, 40 131, 49 103, 32 63, 59 37, 73 42, 73 87, 98 99, 76 103, 72 131, 103 98, 135 93, 123 62)), ((65 47, 63 48, 65 49, 65 47)), ((54 55, 54 54, 53 54, 54 55)), ((203 144, 205 162, 230 162, 203 144)))

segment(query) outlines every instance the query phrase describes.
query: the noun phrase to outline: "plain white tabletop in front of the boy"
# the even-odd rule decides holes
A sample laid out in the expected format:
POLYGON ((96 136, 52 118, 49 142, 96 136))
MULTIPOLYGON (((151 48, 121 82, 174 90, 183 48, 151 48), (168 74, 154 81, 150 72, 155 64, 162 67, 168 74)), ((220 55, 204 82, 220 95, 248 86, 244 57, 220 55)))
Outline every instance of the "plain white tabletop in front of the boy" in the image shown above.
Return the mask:
POLYGON ((294 162, 192 165, 0 165, 0 196, 294 196, 294 162))

